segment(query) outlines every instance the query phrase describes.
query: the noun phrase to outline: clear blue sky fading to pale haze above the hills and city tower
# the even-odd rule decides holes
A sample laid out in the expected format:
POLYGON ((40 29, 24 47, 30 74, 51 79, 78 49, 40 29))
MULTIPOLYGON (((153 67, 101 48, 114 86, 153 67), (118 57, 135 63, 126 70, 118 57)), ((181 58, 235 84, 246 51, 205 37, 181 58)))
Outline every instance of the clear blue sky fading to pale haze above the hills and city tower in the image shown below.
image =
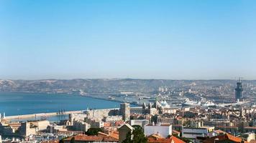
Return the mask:
POLYGON ((255 0, 0 0, 0 79, 256 79, 255 0))

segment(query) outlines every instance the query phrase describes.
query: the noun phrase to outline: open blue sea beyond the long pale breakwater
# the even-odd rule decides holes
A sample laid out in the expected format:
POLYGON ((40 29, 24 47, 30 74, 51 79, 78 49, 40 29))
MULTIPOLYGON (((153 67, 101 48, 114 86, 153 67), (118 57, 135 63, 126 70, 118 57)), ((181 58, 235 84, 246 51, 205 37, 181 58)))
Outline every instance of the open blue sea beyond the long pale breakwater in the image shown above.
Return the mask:
POLYGON ((0 92, 0 113, 6 116, 46 112, 117 108, 119 102, 70 94, 23 94, 0 92))

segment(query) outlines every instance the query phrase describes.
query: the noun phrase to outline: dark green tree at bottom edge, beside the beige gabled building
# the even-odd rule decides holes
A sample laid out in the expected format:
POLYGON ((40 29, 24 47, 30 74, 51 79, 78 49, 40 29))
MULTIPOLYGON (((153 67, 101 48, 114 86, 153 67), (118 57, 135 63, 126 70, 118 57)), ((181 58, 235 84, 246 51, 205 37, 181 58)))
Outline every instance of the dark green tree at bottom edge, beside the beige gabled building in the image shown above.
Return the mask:
POLYGON ((147 137, 145 137, 142 127, 134 125, 134 130, 127 134, 126 139, 122 143, 146 143, 147 137))

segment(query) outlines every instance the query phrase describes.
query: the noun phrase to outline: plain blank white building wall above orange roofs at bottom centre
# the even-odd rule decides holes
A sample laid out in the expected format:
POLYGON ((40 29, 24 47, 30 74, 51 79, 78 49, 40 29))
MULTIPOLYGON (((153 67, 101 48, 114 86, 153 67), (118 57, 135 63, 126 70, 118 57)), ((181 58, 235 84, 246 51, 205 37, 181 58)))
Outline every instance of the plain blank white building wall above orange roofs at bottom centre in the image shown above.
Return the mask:
POLYGON ((151 134, 160 134, 162 137, 168 137, 173 132, 172 125, 151 125, 147 124, 144 127, 144 134, 150 136, 151 134))

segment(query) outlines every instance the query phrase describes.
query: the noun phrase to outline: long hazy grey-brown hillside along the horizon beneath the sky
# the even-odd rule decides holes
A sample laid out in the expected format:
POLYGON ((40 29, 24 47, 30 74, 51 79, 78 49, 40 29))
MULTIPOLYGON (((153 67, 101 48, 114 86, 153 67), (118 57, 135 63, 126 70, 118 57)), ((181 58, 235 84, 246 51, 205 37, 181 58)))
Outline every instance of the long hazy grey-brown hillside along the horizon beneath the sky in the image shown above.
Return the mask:
MULTIPOLYGON (((164 80, 164 79, 45 79, 0 80, 0 92, 37 93, 119 93, 154 92, 158 87, 183 88, 191 86, 214 87, 234 84, 235 80, 164 80)), ((250 81, 255 83, 255 81, 250 81)))

